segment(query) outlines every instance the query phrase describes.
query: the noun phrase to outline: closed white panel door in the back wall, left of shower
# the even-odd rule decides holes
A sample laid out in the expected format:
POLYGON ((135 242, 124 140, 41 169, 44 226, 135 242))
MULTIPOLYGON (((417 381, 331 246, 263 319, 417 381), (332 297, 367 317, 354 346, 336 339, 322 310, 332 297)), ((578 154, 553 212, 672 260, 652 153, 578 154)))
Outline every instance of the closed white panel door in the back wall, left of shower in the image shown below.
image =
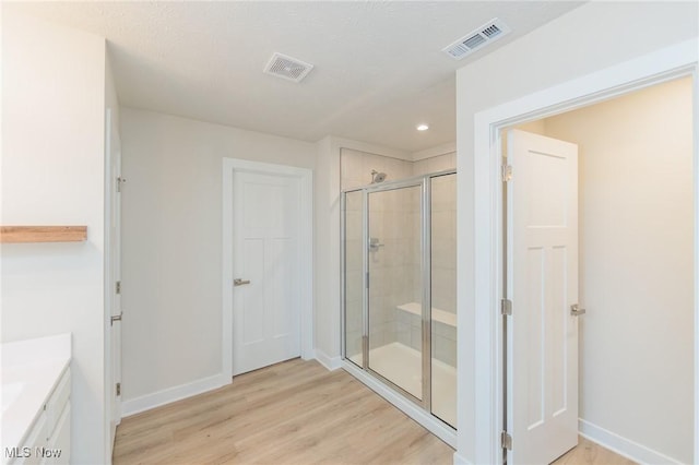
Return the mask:
POLYGON ((299 182, 234 175, 234 375, 300 355, 299 182))

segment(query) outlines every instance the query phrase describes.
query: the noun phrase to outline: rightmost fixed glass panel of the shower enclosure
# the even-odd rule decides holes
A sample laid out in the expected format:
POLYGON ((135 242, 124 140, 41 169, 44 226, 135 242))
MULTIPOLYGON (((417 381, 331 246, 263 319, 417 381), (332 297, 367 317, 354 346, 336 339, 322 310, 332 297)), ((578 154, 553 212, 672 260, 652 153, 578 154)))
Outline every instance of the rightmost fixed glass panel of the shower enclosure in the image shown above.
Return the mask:
POLYGON ((457 175, 431 178, 431 404, 457 427, 457 175))

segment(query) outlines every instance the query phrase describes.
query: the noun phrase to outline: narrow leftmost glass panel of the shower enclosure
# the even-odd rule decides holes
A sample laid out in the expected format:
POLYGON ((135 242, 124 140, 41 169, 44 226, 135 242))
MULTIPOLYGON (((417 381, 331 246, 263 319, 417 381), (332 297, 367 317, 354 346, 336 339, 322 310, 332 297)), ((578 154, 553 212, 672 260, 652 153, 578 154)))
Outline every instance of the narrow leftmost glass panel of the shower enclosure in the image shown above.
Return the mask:
POLYGON ((362 351, 363 274, 362 191, 345 193, 345 357, 359 367, 362 351))

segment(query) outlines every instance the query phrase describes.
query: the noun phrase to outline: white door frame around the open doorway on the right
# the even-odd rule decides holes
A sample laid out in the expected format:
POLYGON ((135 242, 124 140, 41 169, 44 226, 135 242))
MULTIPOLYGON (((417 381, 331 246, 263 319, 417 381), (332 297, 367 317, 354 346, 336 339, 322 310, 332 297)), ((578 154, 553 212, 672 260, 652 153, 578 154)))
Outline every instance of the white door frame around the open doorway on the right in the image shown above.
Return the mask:
MULTIPOLYGON (((459 299, 459 319, 474 318, 474 368, 460 366, 460 380, 474 380, 474 463, 501 463, 500 433, 503 418, 505 358, 503 323, 500 299, 503 297, 503 194, 501 183, 501 130, 523 122, 618 97, 682 76, 692 76, 694 90, 694 287, 695 287, 695 386, 699 386, 699 65, 696 39, 613 65, 562 84, 481 111, 474 116, 474 296, 459 299), (472 308, 469 306, 473 305, 472 308), (476 427, 477 426, 477 427, 476 427)), ((459 230, 465 230, 460 214, 459 230)), ((459 240, 464 240, 459 233, 459 240)), ((470 329, 460 327, 462 341, 470 329)), ((699 390, 695 390, 694 456, 699 457, 699 390)), ((460 410, 464 407, 460 406, 460 410)), ((466 431, 469 428, 460 428, 466 431)), ((517 439, 514 439, 517 441, 517 439)))

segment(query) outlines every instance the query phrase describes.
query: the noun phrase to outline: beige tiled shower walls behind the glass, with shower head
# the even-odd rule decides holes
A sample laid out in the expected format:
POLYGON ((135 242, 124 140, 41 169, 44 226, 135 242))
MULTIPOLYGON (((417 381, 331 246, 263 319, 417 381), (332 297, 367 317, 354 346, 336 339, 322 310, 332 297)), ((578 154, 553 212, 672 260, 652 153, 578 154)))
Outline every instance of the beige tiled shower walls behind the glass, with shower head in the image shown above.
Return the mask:
MULTIPOLYGON (((341 156, 341 188, 371 182, 371 170, 386 172, 387 181, 455 168, 455 153, 406 162, 358 151, 341 156)), ((455 313, 455 176, 433 181, 433 307, 455 313)), ((347 356, 362 351, 362 199, 348 194, 346 204, 346 341, 347 356)), ((420 349, 420 317, 398 309, 422 301, 419 270, 419 193, 389 191, 372 195, 370 237, 383 245, 369 253, 371 271, 370 348, 399 342, 420 349)), ((433 356, 457 365, 455 327, 433 323, 433 356)))

